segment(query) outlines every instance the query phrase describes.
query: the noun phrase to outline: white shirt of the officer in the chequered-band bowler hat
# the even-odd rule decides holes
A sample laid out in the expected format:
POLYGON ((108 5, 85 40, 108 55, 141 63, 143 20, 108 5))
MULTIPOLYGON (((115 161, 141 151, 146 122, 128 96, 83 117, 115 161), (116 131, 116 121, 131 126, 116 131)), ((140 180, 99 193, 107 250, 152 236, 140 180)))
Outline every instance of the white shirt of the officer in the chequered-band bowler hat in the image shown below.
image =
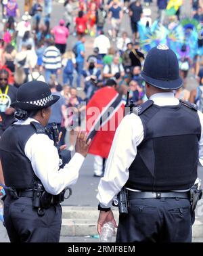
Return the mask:
MULTIPOLYGON (((26 121, 18 121, 16 125, 28 125, 33 121, 37 122, 28 118, 26 121)), ((24 152, 32 164, 35 175, 50 194, 59 194, 64 188, 74 185, 85 159, 81 154, 75 153, 70 162, 59 170, 60 158, 57 148, 53 146, 53 140, 45 134, 37 133, 28 139, 24 152)))

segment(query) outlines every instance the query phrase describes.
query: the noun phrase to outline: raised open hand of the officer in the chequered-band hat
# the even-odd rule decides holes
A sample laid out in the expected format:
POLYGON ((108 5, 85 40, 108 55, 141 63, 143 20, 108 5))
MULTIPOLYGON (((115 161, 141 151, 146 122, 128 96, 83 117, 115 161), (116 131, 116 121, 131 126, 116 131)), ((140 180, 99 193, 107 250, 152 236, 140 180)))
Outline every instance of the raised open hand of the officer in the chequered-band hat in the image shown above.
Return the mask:
POLYGON ((87 156, 90 143, 91 139, 87 142, 87 133, 85 131, 79 131, 76 138, 75 152, 82 154, 84 157, 87 156))

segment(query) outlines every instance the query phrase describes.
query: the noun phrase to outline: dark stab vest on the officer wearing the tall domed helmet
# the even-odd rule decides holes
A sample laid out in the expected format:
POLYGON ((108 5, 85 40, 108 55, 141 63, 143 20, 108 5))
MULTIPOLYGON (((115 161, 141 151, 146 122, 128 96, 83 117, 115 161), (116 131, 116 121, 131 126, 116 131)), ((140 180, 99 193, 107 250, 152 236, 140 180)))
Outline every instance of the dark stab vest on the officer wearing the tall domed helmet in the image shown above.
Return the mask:
POLYGON ((160 192, 188 189, 197 177, 201 136, 198 112, 181 102, 177 106, 148 105, 141 114, 138 110, 144 138, 125 186, 160 192))

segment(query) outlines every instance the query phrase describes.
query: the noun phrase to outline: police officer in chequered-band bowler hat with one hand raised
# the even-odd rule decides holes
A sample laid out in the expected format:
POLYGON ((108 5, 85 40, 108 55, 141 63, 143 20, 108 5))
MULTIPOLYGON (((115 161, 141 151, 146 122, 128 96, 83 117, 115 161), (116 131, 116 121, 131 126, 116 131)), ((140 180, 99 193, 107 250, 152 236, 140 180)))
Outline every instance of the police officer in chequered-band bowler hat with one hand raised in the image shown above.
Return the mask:
POLYGON ((18 89, 17 101, 12 104, 19 120, 3 133, 0 142, 7 194, 5 227, 11 242, 60 239, 62 207, 56 195, 75 184, 90 141, 86 142, 85 132, 79 132, 76 153, 60 168, 58 149, 45 131, 51 105, 59 98, 51 94, 46 83, 32 81, 18 89), (46 195, 44 201, 42 195, 46 195), (45 206, 42 202, 49 203, 45 206))

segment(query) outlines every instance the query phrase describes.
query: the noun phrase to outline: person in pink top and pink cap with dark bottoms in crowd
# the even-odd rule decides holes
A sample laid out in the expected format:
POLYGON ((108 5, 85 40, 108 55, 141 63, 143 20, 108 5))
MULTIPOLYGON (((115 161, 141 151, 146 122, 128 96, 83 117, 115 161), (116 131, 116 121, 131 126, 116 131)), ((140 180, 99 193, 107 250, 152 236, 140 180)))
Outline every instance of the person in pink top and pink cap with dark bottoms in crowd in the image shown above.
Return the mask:
POLYGON ((55 47, 60 50, 61 54, 64 54, 66 51, 66 42, 69 36, 69 30, 65 26, 65 21, 61 19, 59 26, 54 26, 51 33, 55 39, 55 47))

